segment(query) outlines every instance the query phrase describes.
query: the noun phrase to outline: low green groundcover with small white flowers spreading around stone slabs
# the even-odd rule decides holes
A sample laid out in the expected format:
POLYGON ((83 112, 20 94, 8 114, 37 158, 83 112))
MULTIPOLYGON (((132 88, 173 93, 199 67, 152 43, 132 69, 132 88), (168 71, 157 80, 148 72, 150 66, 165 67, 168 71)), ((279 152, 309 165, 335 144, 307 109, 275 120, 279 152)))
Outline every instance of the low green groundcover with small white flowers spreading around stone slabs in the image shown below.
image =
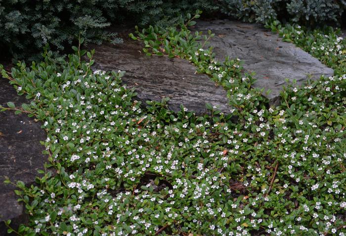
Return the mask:
MULTIPOLYGON (((184 107, 173 113, 167 99, 142 108, 135 91, 121 84, 124 72, 91 70, 93 51, 79 47, 61 64, 45 51, 44 61, 30 68, 18 63, 11 73, 2 70, 18 94, 33 99, 2 110, 42 121, 49 159, 36 186, 16 183, 30 222, 9 232, 346 234, 345 41, 332 31, 316 38, 315 56, 328 61, 338 54, 335 76, 288 86, 281 105, 269 107, 241 61, 215 60, 206 48, 212 32, 203 37, 188 30, 199 13, 177 27, 149 27, 130 37, 142 40, 148 55, 185 58, 210 75, 227 90, 229 114, 210 104, 205 116, 184 107)), ((287 29, 285 39, 307 35, 297 31, 287 29)))

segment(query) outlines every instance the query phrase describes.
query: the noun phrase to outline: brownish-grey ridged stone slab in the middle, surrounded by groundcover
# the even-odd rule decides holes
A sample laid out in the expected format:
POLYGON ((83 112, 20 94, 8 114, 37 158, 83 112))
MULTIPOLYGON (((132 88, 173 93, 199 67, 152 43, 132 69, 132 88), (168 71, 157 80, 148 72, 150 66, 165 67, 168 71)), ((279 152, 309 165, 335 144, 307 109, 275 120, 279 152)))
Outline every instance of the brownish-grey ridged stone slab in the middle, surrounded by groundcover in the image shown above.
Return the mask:
POLYGON ((143 44, 129 39, 131 31, 121 33, 124 44, 89 46, 95 48, 95 68, 126 71, 123 83, 135 88, 142 104, 147 100, 161 101, 163 97, 170 97, 168 106, 175 112, 183 104, 196 114, 205 114, 206 103, 211 103, 229 113, 231 107, 221 86, 216 86, 207 75, 195 74, 195 66, 185 59, 146 56, 143 44))

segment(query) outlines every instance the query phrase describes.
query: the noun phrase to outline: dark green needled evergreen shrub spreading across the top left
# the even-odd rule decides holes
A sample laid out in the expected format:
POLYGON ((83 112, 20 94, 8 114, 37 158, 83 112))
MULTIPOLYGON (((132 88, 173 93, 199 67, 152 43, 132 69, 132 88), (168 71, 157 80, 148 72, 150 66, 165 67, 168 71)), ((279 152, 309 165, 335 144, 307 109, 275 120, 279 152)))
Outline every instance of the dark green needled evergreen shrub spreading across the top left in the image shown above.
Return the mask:
MULTIPOLYGON (((211 0, 6 0, 0 1, 0 48, 18 57, 45 44, 55 51, 80 34, 85 42, 121 42, 103 29, 111 23, 172 24, 182 12, 212 9, 211 0)), ((66 48, 70 48, 66 47, 66 48)))

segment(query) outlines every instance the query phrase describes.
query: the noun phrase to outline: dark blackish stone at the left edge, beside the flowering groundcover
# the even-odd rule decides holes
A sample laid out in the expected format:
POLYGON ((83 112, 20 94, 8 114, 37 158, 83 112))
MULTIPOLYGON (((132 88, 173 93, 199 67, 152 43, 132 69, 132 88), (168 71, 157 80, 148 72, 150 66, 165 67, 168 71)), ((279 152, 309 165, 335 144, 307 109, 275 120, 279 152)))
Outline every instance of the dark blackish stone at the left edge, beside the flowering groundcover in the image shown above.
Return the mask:
MULTIPOLYGON (((18 96, 7 80, 0 77, 0 104, 6 106, 8 101, 18 107, 29 103, 25 96, 18 96)), ((6 235, 3 220, 12 220, 17 228, 27 221, 22 203, 17 201, 16 189, 3 183, 4 176, 12 182, 23 181, 26 185, 34 183, 37 170, 44 169, 47 161, 42 154, 44 146, 40 141, 46 139, 41 123, 35 122, 27 114, 15 115, 12 111, 0 112, 0 199, 4 207, 0 208, 0 236, 6 235)))

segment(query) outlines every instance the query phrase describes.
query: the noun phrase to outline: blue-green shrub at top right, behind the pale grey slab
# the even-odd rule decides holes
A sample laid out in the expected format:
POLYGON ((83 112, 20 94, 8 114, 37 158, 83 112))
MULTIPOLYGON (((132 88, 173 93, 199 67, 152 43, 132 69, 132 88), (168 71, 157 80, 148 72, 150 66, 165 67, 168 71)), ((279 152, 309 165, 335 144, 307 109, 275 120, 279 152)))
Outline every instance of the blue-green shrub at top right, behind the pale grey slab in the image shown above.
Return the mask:
POLYGON ((247 22, 341 23, 345 0, 221 0, 221 11, 247 22))

